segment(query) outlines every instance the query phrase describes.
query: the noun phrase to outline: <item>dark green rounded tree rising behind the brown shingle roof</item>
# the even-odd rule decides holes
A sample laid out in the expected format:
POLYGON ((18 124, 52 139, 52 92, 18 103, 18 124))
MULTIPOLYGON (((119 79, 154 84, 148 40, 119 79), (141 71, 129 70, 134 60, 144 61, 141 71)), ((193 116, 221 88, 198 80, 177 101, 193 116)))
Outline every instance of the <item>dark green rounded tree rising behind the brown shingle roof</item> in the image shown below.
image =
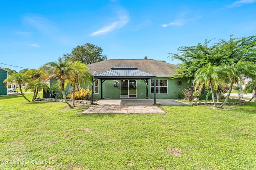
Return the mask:
POLYGON ((86 43, 84 45, 76 46, 71 53, 63 55, 63 59, 71 59, 73 61, 80 61, 85 64, 96 63, 107 60, 106 55, 102 55, 103 49, 96 45, 86 43))

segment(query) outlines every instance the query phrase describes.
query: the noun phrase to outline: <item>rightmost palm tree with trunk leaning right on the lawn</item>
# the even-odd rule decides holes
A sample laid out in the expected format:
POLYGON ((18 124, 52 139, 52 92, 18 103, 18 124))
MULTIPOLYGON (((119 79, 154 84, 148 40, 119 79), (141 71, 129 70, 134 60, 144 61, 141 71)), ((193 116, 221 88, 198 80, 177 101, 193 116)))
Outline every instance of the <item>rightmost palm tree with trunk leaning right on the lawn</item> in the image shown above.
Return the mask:
POLYGON ((232 88, 235 83, 238 83, 240 80, 242 80, 243 77, 256 76, 256 65, 245 61, 238 61, 238 63, 225 64, 222 67, 222 69, 227 74, 225 77, 226 80, 228 80, 227 83, 230 83, 230 86, 226 99, 222 103, 220 108, 222 108, 228 102, 232 88))

